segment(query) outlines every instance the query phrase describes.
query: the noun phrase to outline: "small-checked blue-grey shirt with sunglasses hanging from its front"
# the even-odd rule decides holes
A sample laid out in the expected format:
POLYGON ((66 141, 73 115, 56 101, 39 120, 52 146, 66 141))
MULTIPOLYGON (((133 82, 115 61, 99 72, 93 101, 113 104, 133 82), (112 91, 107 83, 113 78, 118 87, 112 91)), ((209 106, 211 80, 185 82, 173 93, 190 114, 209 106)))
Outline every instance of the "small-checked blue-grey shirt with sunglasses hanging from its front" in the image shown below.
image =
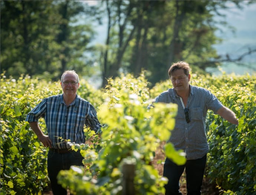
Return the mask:
POLYGON ((190 89, 186 106, 189 111, 189 123, 186 122, 183 102, 174 88, 164 91, 154 101, 178 104, 175 127, 167 142, 171 142, 176 150, 183 149, 187 160, 202 158, 207 154, 209 151, 205 128, 207 110, 216 113, 223 106, 210 91, 193 85, 190 85, 190 89))

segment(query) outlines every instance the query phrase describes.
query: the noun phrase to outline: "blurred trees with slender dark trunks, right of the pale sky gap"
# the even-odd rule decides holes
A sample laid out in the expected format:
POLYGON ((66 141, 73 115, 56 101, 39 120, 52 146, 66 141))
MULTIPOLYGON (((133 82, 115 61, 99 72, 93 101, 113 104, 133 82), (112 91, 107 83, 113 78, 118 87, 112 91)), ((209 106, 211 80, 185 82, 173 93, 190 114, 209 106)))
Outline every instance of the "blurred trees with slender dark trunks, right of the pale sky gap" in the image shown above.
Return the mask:
MULTIPOLYGON (((120 71, 139 75, 145 69, 154 85, 168 78, 168 68, 175 61, 186 60, 194 70, 204 71, 223 60, 213 47, 221 41, 214 33, 219 24, 227 24, 214 16, 220 8, 227 9, 226 1, 105 2, 109 25, 104 81, 120 71)), ((242 2, 231 2, 241 8, 242 2)))

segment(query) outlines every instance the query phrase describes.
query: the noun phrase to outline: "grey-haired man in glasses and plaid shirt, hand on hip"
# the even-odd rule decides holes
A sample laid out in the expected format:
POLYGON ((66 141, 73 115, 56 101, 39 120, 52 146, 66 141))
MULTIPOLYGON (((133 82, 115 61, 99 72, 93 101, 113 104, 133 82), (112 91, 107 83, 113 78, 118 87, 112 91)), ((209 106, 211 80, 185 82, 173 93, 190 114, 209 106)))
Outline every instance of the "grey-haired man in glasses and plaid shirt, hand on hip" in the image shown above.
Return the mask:
POLYGON ((79 97, 76 91, 79 87, 79 77, 73 70, 62 74, 60 85, 63 93, 43 99, 27 115, 26 121, 36 133, 45 147, 49 147, 47 155, 47 171, 54 195, 67 194, 57 181, 60 170, 69 169, 72 165, 83 166, 80 151, 73 151, 67 142, 85 143, 84 126, 99 133, 101 124, 96 110, 88 101, 79 97), (38 124, 38 119, 44 117, 48 135, 45 135, 38 124))

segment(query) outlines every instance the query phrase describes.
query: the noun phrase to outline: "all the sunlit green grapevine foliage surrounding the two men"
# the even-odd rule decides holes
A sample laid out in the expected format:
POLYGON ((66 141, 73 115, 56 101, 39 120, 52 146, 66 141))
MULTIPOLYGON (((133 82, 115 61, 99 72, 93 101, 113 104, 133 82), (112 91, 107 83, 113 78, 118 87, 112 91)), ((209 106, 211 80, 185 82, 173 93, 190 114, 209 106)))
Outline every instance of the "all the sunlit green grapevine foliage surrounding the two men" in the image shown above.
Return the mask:
MULTIPOLYGON (((255 81, 255 74, 191 76, 191 84, 209 89, 239 118, 238 126, 230 125, 211 111, 206 119, 210 146, 206 176, 217 182, 223 195, 249 195, 256 190, 255 81)), ((108 82, 103 91, 81 79, 78 94, 97 107, 103 133, 99 136, 85 129, 86 137, 93 137, 91 144, 70 143, 72 149, 81 149, 85 167, 60 172, 59 182, 76 194, 120 194, 122 165, 129 161, 135 165, 134 184, 138 194, 163 193, 166 179, 154 170, 152 158, 160 142, 168 139, 177 108, 172 104, 157 104, 147 110, 147 105, 150 98, 170 88, 171 81, 149 89, 141 73, 137 78, 127 74, 108 82)), ((1 75, 1 195, 40 194, 47 185, 47 149, 24 120, 27 112, 43 98, 60 93, 59 83, 28 76, 15 80, 1 75)), ((39 122, 46 131, 44 121, 39 122)), ((172 153, 172 145, 166 145, 165 152, 184 163, 179 152, 172 153)))

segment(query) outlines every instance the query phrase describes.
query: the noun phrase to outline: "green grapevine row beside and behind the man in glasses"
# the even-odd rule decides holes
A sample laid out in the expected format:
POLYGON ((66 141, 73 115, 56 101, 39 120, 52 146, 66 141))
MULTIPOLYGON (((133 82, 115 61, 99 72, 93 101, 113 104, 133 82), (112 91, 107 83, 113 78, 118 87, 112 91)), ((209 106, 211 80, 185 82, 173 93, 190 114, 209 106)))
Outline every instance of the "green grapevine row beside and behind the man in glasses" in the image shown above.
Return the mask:
MULTIPOLYGON (((80 86, 86 91, 82 96, 88 95, 91 100, 100 100, 101 95, 97 96, 84 80, 81 80, 80 86)), ((1 74, 1 195, 36 194, 47 186, 47 149, 24 120, 27 113, 43 98, 60 93, 60 83, 47 83, 45 80, 23 75, 16 80, 1 74)), ((45 122, 40 120, 39 124, 42 131, 46 132, 45 122)))

